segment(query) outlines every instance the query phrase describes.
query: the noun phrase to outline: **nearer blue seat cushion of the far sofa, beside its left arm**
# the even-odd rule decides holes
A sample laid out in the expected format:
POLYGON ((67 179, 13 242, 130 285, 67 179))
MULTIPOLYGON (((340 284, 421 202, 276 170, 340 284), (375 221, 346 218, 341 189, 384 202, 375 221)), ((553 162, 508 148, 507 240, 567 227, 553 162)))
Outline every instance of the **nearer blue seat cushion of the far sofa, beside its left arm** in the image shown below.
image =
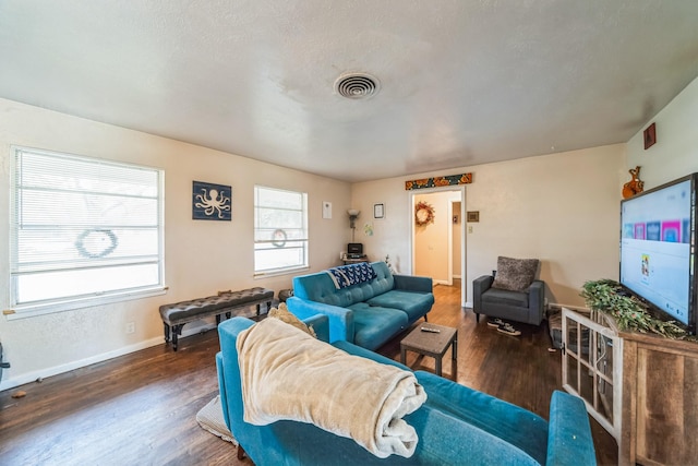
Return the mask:
POLYGON ((409 325, 407 314, 397 309, 365 302, 358 302, 349 309, 353 311, 353 343, 368 349, 376 349, 409 325))

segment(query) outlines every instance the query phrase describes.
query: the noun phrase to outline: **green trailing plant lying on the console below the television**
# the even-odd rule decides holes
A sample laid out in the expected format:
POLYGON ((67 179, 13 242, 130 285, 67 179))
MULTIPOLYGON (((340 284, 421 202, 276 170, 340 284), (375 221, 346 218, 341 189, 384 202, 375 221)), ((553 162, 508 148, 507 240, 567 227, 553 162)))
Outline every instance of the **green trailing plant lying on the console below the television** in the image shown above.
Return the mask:
POLYGON ((687 332, 675 321, 657 319, 648 311, 647 304, 634 296, 619 292, 621 290, 621 284, 603 278, 585 283, 580 296, 585 298, 589 309, 613 316, 622 331, 657 333, 673 339, 688 337, 687 332))

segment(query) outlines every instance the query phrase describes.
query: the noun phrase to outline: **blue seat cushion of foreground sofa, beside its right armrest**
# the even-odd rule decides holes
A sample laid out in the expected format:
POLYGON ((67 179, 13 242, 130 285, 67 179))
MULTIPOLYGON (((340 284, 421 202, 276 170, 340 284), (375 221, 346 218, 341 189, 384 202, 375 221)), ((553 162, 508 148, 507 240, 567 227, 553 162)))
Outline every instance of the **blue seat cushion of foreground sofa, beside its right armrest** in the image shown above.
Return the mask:
POLYGON ((547 456, 547 421, 519 406, 430 372, 417 371, 426 405, 484 430, 526 452, 540 464, 547 456))

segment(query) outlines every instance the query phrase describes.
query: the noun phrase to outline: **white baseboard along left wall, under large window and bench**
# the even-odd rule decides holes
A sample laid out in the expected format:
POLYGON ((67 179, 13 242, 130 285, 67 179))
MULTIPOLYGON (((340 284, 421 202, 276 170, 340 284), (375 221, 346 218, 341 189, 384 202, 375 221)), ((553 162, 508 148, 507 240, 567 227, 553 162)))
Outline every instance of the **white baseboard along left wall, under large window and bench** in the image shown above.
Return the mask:
MULTIPOLYGON (((182 335, 180 338, 194 335, 201 332, 209 331, 216 328, 216 324, 206 323, 204 325, 195 325, 190 328, 184 327, 182 330, 182 335)), ((51 368, 45 368, 37 371, 32 371, 23 374, 19 374, 16 377, 12 377, 10 379, 0 381, 0 392, 4 390, 14 389, 15 386, 24 385, 26 383, 35 382, 40 379, 46 379, 52 375, 58 375, 63 372, 70 372, 75 369, 84 368, 97 362, 104 362, 109 359, 118 358, 119 356, 124 356, 131 353, 140 351, 141 349, 151 348, 157 345, 164 345, 165 337, 157 336, 154 338, 145 339, 143 342, 135 343, 133 345, 123 346, 121 348, 117 348, 111 351, 101 353, 99 355, 94 355, 85 359, 80 359, 76 361, 67 362, 64 365, 55 366, 51 368)), ((4 369, 3 374, 7 374, 11 369, 4 369)))

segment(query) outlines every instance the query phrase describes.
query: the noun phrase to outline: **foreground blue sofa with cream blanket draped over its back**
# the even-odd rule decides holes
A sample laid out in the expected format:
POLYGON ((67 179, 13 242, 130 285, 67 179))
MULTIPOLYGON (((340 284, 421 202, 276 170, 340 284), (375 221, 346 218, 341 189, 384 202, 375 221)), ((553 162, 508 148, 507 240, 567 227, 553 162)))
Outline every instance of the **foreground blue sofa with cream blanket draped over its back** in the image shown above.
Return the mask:
MULTIPOLYGON (((305 320, 320 339, 329 336, 328 319, 305 320)), ((311 423, 290 420, 267 426, 243 421, 237 336, 254 322, 233 318, 218 326, 216 355, 226 425, 257 465, 594 465, 589 418, 580 398, 554 392, 550 420, 524 408, 429 372, 416 372, 428 399, 405 420, 417 430, 414 454, 405 458, 373 456, 353 440, 311 423)), ((409 370, 398 362, 350 343, 333 345, 349 354, 409 370)), ((289 394, 284 394, 288 396, 289 394)), ((242 450, 238 451, 238 455, 242 450)))

